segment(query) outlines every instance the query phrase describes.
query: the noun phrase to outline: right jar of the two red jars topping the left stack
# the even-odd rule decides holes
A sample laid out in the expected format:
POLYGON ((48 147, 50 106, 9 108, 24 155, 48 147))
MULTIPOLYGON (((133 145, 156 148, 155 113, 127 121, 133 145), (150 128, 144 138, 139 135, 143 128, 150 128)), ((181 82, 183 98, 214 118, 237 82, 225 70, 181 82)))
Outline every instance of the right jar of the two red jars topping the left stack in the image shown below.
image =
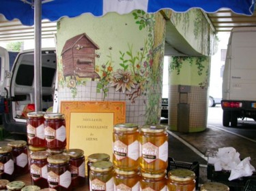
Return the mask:
POLYGON ((67 145, 66 121, 63 114, 44 115, 44 135, 50 150, 63 150, 67 145))

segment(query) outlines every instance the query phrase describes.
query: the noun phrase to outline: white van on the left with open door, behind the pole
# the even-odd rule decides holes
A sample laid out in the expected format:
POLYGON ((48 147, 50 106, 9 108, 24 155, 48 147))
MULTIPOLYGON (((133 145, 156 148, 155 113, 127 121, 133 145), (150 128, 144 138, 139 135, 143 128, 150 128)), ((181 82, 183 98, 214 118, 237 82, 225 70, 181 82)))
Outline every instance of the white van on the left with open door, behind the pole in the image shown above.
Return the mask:
MULTIPOLYGON (((1 82, 0 94, 4 100, 4 111, 1 114, 3 127, 15 135, 27 134, 27 118, 25 109, 35 100, 34 84, 34 51, 26 50, 18 53, 9 69, 9 55, 0 47, 1 82)), ((57 68, 55 49, 42 49, 42 108, 43 111, 53 106, 55 77, 57 68)))

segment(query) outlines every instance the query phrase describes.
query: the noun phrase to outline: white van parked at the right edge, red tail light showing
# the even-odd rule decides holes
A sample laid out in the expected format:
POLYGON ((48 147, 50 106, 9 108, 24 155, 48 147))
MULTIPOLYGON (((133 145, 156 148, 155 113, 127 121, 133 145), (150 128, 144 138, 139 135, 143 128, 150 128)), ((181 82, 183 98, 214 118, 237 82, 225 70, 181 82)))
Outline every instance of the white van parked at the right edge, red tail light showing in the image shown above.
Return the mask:
POLYGON ((256 27, 230 33, 221 107, 223 126, 237 126, 238 118, 256 120, 256 27))

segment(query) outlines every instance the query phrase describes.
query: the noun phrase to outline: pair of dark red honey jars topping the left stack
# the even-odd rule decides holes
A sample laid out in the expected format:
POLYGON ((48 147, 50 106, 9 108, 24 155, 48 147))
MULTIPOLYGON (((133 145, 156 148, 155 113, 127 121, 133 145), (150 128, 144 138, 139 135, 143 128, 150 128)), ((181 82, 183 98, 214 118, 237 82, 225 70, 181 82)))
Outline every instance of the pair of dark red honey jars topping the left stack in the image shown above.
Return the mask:
POLYGON ((27 141, 33 147, 63 150, 66 147, 66 120, 63 114, 34 111, 27 114, 27 141))

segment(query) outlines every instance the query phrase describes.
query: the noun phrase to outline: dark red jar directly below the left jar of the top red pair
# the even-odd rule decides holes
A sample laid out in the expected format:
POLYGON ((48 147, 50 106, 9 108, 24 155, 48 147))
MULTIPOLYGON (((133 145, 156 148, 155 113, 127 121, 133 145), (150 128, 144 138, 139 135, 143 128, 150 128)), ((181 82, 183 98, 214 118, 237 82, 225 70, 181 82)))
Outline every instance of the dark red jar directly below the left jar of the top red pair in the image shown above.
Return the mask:
POLYGON ((40 188, 48 188, 47 181, 47 158, 50 153, 46 151, 33 152, 30 156, 30 175, 31 182, 40 188))

